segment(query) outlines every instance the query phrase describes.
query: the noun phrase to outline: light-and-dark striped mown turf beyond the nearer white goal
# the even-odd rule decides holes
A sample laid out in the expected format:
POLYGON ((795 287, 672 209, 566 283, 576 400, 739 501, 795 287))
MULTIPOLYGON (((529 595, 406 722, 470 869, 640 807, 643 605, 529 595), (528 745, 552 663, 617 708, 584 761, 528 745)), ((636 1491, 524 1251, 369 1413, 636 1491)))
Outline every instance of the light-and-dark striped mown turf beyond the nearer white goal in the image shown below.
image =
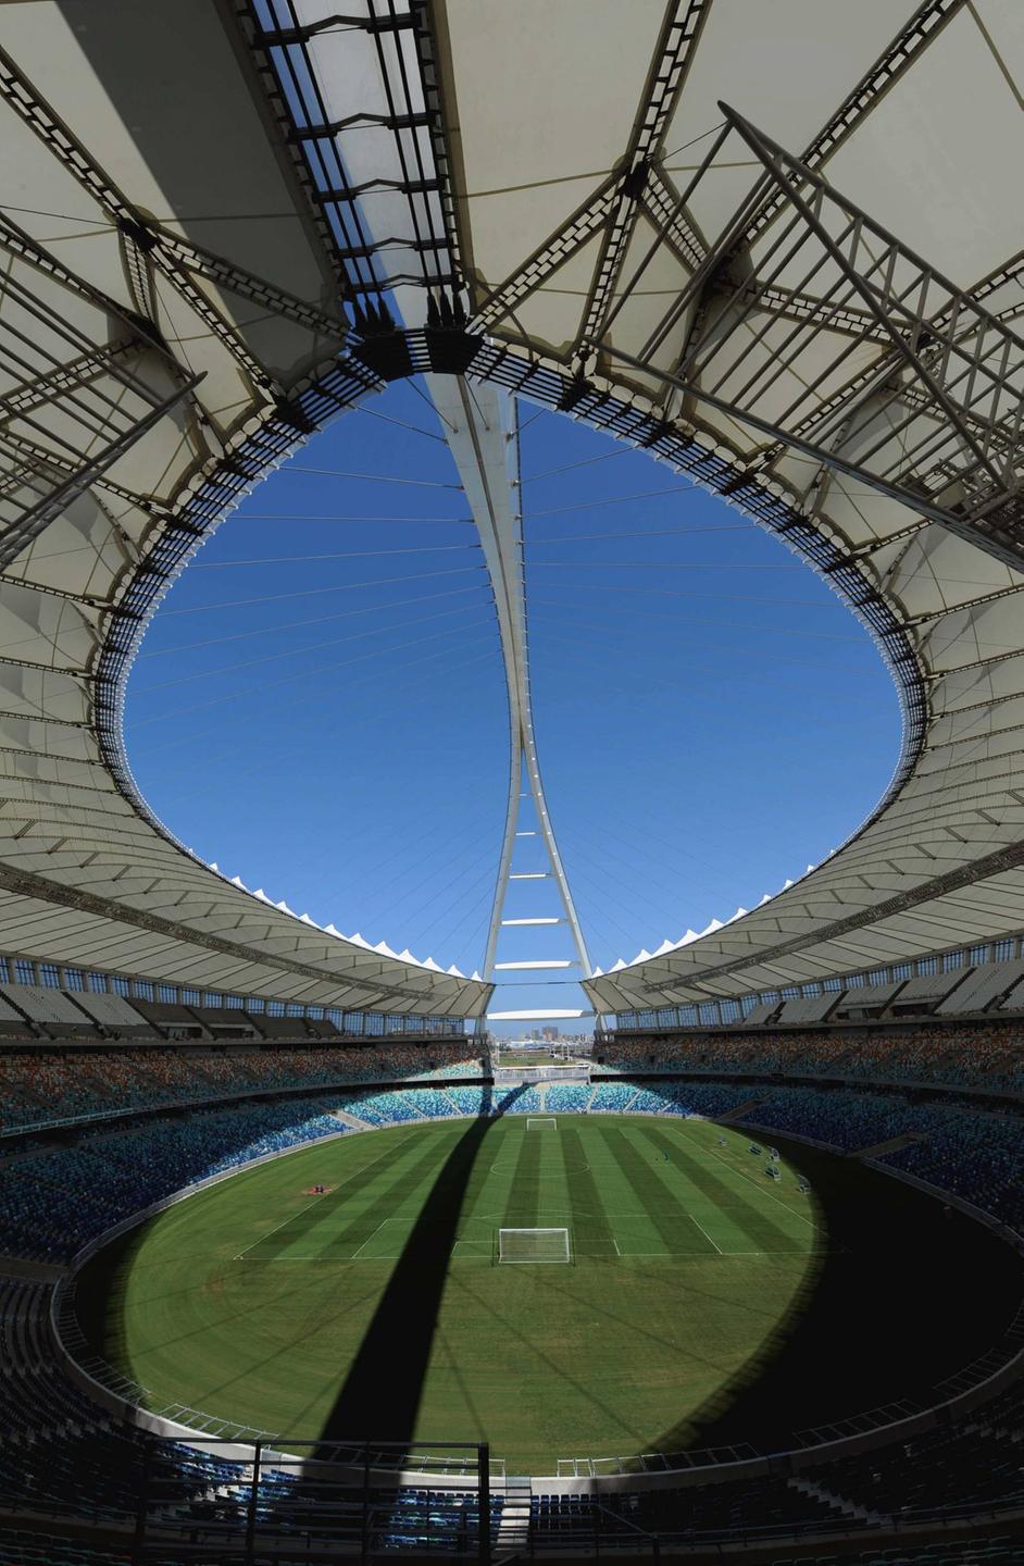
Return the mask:
MULTIPOLYGON (((235 1259, 399 1261, 424 1221, 445 1142, 457 1138, 457 1126, 391 1132, 351 1173, 341 1154, 354 1159, 355 1148, 338 1148, 337 1182, 323 1182, 329 1193, 308 1198, 235 1259)), ((531 1128, 520 1115, 489 1131, 457 1231, 448 1237, 448 1203, 426 1221, 437 1225, 438 1245, 449 1239, 457 1264, 496 1261, 503 1228, 567 1228, 576 1262, 806 1256, 816 1248, 811 1198, 789 1170, 770 1181, 767 1153, 755 1159, 742 1151, 748 1143, 717 1128, 708 1135, 697 1123, 604 1124, 564 1115, 531 1128)))

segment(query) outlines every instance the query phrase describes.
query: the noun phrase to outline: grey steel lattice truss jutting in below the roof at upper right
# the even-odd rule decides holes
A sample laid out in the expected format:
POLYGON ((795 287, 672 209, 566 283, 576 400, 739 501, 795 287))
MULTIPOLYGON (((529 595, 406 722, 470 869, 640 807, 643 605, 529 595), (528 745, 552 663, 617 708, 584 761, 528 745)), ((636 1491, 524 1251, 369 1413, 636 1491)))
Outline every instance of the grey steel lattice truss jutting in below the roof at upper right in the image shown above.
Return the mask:
MULTIPOLYGON (((902 501, 1011 567, 1024 562, 1024 337, 844 199, 777 143, 722 105, 725 127, 681 193, 736 144, 764 164, 722 236, 703 255, 636 355, 608 341, 598 355, 656 370, 683 335, 665 384, 750 424, 781 448, 902 501), (764 240, 748 241, 772 211, 764 240), (788 329, 767 340, 778 318, 788 329), (822 354, 822 334, 839 338, 822 354), (866 351, 871 368, 864 370, 866 351)), ((611 327, 665 243, 670 218, 622 290, 611 327)))

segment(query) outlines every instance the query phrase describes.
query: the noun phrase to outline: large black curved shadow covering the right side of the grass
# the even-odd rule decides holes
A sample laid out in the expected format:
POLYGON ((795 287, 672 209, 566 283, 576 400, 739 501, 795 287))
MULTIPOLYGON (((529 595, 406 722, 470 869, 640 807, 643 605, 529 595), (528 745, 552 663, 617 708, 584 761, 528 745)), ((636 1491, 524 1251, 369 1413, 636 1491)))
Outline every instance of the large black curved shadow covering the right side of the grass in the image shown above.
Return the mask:
MULTIPOLYGON (((979 1223, 856 1159, 773 1140, 811 1182, 819 1248, 742 1370, 648 1450, 777 1450, 888 1403, 927 1406, 1013 1314, 1018 1259, 979 1223)), ((705 1268, 700 1287, 712 1279, 705 1268)), ((770 1264, 752 1270, 750 1289, 752 1306, 772 1304, 770 1264)))

